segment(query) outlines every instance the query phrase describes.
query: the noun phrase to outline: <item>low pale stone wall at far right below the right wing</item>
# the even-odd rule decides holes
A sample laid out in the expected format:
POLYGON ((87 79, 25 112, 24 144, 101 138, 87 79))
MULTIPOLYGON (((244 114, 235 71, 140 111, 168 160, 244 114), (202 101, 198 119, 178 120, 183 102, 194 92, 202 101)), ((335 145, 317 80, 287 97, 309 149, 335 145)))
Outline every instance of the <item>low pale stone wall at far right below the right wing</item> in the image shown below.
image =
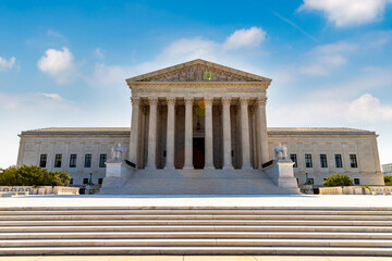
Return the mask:
POLYGON ((363 186, 347 186, 347 187, 320 187, 320 195, 391 195, 392 186, 369 186, 368 188, 363 188, 363 186))

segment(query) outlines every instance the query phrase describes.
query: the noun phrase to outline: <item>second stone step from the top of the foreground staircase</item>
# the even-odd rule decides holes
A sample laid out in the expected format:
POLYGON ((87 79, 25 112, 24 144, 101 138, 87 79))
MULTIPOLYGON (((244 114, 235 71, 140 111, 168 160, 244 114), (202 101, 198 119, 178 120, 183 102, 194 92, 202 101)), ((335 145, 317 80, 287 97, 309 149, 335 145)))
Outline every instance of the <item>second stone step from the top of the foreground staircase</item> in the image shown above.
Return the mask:
POLYGON ((57 220, 342 220, 392 221, 392 215, 0 215, 0 221, 57 221, 57 220))

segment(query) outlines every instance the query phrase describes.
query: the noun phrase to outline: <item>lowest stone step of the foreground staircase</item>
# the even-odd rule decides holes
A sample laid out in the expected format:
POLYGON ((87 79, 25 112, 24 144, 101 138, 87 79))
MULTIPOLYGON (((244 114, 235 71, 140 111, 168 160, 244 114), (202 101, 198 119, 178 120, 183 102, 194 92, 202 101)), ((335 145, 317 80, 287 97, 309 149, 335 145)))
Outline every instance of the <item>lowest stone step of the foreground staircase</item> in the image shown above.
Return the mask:
POLYGON ((323 254, 390 257, 391 252, 392 248, 371 247, 14 247, 2 248, 0 254, 323 254))

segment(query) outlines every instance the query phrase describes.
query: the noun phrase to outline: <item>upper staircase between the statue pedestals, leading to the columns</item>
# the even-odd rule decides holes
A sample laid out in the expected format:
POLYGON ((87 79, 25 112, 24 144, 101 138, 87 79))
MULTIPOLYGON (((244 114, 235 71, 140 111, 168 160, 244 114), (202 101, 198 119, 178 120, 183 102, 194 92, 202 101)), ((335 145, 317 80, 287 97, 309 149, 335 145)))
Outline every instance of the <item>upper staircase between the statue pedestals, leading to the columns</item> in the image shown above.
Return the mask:
POLYGON ((125 182, 107 177, 100 194, 110 195, 298 195, 278 187, 260 170, 137 170, 125 182), (115 183, 115 182, 114 182, 115 183))

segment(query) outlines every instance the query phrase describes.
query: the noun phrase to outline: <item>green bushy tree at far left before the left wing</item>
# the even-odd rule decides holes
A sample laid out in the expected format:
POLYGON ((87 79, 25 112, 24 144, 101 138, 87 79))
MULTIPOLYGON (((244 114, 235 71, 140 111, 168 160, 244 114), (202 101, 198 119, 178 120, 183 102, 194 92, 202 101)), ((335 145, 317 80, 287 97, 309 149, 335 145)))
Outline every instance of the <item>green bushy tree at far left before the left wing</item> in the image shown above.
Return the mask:
POLYGON ((0 172, 0 186, 68 186, 66 172, 48 172, 36 165, 10 166, 0 172))

